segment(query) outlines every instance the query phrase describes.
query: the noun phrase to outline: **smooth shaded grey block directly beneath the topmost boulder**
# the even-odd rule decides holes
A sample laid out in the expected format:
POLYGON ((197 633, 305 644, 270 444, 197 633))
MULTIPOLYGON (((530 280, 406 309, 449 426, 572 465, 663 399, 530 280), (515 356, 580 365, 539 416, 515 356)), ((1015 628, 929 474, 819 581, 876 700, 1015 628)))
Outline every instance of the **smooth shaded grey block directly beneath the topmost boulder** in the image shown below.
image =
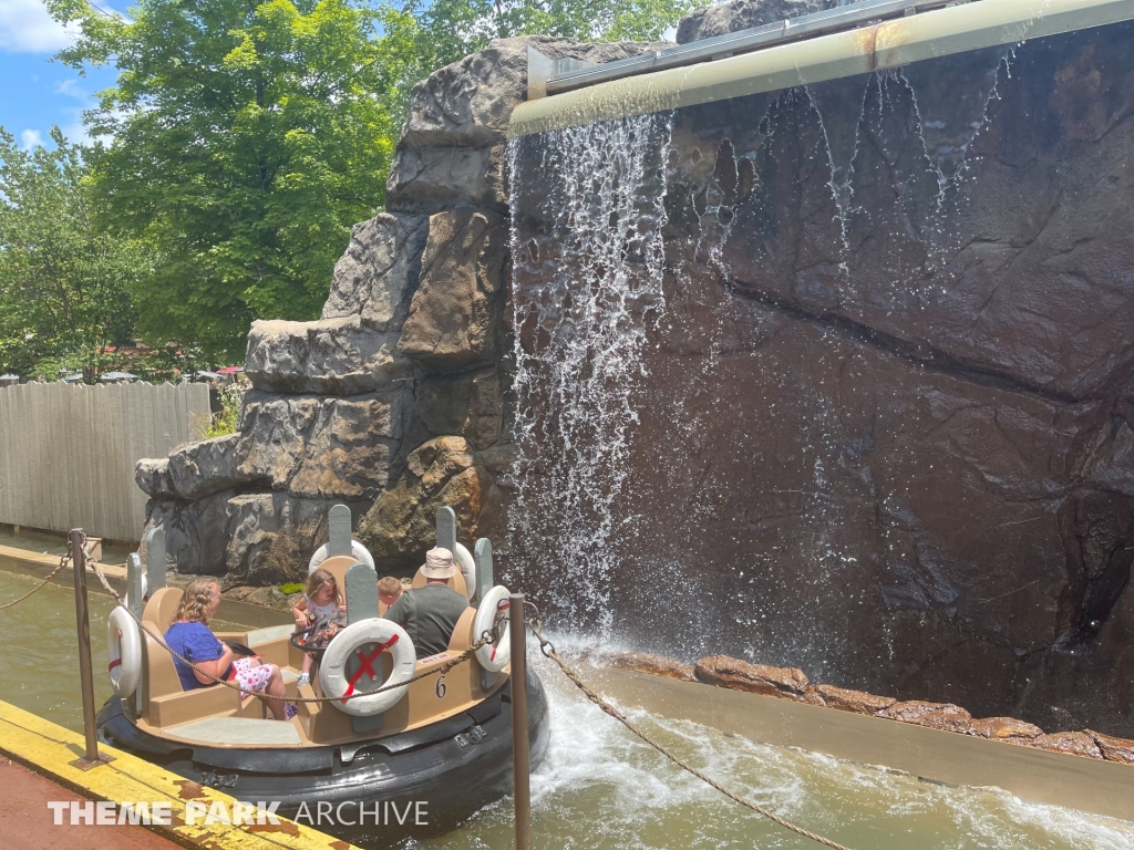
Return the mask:
POLYGON ((386 181, 386 206, 398 212, 437 212, 455 204, 506 213, 503 145, 400 147, 386 181))

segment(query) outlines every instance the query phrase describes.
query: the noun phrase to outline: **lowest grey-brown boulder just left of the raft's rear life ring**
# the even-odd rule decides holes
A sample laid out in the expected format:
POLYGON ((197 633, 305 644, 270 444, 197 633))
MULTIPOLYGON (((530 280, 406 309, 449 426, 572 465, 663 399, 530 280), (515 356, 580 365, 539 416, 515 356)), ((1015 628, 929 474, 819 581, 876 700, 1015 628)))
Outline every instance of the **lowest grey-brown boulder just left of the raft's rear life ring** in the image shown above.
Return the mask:
MULTIPOLYGON (((278 585, 303 581, 307 562, 327 542, 327 515, 341 500, 294 499, 286 493, 238 495, 226 504, 228 581, 278 585)), ((370 502, 347 502, 356 519, 370 502)))

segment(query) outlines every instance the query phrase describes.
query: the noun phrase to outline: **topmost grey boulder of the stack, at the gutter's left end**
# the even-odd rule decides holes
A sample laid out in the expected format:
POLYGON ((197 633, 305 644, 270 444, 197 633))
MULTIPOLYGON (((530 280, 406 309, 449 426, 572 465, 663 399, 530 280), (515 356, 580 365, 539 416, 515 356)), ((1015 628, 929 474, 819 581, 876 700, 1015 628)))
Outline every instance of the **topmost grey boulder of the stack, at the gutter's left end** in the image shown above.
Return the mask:
POLYGON ((414 86, 399 150, 503 143, 513 109, 527 97, 528 45, 549 59, 587 62, 612 62, 667 46, 572 42, 541 35, 493 40, 486 50, 433 71, 414 86))

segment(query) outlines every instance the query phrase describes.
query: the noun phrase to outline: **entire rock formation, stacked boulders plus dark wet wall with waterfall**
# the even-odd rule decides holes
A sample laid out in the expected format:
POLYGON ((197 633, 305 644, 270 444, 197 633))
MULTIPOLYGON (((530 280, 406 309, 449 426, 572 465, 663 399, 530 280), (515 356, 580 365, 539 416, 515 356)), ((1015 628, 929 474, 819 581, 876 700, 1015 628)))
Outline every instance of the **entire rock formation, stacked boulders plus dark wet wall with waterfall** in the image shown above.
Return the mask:
POLYGON ((448 503, 644 649, 1129 737, 1132 36, 510 152, 530 41, 651 45, 494 42, 415 90, 322 318, 254 325, 239 432, 139 465, 149 521, 183 572, 274 583, 333 502, 391 570, 448 503))

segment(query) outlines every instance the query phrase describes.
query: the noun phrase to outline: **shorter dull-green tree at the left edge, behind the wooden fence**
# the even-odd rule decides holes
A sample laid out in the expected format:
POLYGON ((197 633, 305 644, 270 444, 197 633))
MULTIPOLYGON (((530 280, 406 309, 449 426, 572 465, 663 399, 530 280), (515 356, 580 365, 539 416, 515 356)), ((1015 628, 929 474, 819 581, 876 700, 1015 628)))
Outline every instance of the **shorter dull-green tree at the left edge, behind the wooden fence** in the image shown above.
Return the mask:
POLYGON ((150 252, 96 230, 81 148, 51 138, 23 151, 0 127, 0 372, 93 380, 108 347, 130 343, 150 252))

